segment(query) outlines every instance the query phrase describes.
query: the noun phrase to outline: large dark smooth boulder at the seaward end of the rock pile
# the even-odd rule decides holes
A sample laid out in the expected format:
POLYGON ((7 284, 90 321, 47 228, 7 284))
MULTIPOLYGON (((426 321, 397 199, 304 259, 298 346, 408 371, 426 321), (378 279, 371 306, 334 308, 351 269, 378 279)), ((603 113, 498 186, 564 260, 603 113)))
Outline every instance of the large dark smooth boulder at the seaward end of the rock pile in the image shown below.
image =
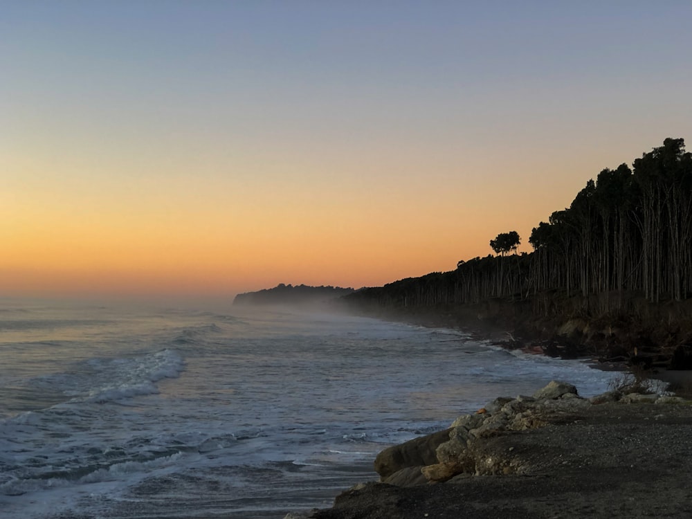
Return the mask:
POLYGON ((437 463, 435 450, 440 444, 449 441, 451 429, 434 432, 406 441, 401 445, 385 448, 375 458, 375 471, 380 477, 388 477, 402 468, 424 466, 437 463))

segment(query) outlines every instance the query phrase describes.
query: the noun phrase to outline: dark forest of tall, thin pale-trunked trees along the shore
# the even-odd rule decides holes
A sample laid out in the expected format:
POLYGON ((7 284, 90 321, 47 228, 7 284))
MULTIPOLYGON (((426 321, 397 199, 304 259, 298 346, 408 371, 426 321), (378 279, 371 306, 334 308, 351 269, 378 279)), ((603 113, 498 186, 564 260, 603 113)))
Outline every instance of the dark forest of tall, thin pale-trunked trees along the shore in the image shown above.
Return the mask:
POLYGON ((449 272, 366 288, 345 298, 372 307, 434 307, 537 294, 572 298, 584 315, 626 311, 692 293, 692 154, 666 138, 632 167, 604 169, 531 232, 531 253, 517 253, 516 231, 490 242, 496 255, 462 260, 449 272))

